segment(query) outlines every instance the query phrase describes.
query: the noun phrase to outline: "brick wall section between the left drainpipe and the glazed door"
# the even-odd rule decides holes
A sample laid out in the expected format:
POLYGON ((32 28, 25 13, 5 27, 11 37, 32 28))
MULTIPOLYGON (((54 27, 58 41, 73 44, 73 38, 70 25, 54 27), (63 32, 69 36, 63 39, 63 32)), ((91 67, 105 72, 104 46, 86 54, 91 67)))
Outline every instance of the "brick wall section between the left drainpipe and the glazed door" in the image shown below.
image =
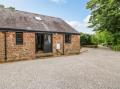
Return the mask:
POLYGON ((7 58, 11 60, 35 58, 35 33, 23 33, 23 45, 16 45, 15 32, 7 32, 7 58))

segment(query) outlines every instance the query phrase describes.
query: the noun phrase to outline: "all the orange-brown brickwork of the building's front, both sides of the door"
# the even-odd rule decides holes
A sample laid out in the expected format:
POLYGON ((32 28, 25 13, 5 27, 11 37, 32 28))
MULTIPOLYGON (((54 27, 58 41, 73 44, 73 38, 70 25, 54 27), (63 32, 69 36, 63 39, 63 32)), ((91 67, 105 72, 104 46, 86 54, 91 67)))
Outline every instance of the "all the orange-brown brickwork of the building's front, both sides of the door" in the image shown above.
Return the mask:
MULTIPOLYGON (((16 45, 16 35, 15 32, 7 32, 7 60, 24 60, 24 59, 35 59, 35 33, 34 32, 24 32, 23 33, 23 45, 16 45)), ((80 36, 72 35, 72 41, 70 44, 64 43, 63 45, 63 34, 54 34, 52 36, 53 44, 53 54, 60 55, 80 53, 80 36), (56 50, 57 43, 60 44, 60 50, 56 50)), ((4 47, 4 33, 0 32, 0 61, 4 61, 5 58, 5 47, 4 47)))

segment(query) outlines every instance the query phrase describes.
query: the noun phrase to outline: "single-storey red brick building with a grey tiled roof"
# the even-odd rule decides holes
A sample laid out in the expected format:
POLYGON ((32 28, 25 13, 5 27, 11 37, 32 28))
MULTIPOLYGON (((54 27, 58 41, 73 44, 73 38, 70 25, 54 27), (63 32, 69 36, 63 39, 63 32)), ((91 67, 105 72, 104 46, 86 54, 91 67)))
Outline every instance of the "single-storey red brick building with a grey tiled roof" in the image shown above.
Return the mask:
POLYGON ((60 18, 0 8, 0 61, 80 53, 80 35, 60 18))

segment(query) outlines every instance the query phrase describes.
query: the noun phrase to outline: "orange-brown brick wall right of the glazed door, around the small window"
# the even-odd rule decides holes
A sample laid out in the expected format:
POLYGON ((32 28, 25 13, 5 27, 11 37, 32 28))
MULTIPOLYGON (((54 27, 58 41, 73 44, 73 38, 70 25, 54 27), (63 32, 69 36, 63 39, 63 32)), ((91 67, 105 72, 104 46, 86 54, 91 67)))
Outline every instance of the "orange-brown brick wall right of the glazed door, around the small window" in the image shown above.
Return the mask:
MULTIPOLYGON (((53 53, 60 55, 63 53, 63 34, 53 35, 53 53), (60 50, 57 51, 57 44, 60 44, 60 50)), ((72 35, 71 43, 64 43, 64 54, 80 53, 80 35, 72 35)))

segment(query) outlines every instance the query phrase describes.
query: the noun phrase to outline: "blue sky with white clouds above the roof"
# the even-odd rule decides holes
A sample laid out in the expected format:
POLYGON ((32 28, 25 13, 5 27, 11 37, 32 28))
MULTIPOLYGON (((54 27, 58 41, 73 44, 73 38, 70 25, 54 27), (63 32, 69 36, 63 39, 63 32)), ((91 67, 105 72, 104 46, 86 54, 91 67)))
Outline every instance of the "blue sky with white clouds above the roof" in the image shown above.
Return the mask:
POLYGON ((90 11, 86 9, 89 0, 0 0, 5 7, 28 11, 65 20, 79 32, 93 33, 88 28, 90 11))

